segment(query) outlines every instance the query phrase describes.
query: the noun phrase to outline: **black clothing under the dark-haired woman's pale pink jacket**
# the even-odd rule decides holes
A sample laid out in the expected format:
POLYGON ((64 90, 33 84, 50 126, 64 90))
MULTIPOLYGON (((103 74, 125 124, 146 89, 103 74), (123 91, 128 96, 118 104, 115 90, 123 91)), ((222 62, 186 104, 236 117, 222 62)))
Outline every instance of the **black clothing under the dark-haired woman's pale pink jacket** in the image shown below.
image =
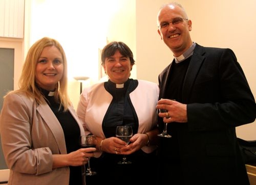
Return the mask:
MULTIPOLYGON (((106 138, 116 137, 118 125, 131 125, 133 135, 138 133, 138 116, 130 99, 130 93, 138 87, 138 80, 128 79, 123 85, 120 88, 110 80, 104 83, 106 91, 113 97, 102 121, 102 129, 106 138)), ((97 174, 86 176, 86 185, 154 184, 155 179, 142 178, 141 174, 146 173, 150 177, 154 175, 156 151, 145 153, 140 149, 128 155, 127 160, 131 161, 131 164, 118 164, 122 157, 123 155, 106 152, 103 152, 99 158, 92 157, 90 166, 97 174)))

